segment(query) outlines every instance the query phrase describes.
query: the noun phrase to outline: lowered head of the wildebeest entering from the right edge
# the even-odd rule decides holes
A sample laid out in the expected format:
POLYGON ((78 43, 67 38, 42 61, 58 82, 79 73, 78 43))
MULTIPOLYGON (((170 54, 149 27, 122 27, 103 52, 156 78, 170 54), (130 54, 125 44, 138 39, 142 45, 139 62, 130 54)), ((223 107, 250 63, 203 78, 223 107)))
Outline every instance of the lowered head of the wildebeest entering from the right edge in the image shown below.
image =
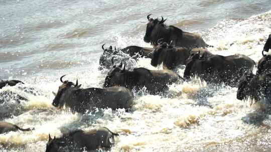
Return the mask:
POLYGON ((247 99, 250 92, 250 86, 249 82, 253 78, 254 74, 252 71, 247 71, 243 74, 243 76, 240 78, 238 82, 238 90, 237 90, 237 99, 242 100, 242 99, 247 99))

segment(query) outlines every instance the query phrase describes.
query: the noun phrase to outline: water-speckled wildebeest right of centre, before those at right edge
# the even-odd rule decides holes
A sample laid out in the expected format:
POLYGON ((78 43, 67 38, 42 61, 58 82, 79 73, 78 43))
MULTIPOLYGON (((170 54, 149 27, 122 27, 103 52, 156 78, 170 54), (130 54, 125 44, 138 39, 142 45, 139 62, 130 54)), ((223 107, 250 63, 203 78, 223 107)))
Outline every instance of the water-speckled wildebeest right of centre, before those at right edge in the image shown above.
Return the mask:
POLYGON ((184 78, 197 75, 206 82, 224 82, 226 85, 235 86, 243 73, 252 70, 255 64, 251 58, 241 54, 202 57, 195 53, 187 61, 184 78))

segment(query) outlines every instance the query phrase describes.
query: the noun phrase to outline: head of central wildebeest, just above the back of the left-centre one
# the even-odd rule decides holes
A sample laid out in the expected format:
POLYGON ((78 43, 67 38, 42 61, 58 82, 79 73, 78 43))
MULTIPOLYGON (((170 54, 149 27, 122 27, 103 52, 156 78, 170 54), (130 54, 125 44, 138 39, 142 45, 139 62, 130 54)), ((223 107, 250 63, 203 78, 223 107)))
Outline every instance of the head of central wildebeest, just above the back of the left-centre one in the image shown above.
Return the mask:
POLYGON ((123 72, 125 72, 125 63, 124 67, 122 68, 122 62, 120 62, 118 65, 113 65, 113 67, 109 70, 107 73, 105 79, 104 79, 104 84, 103 87, 111 87, 115 85, 122 84, 124 82, 121 76, 123 72))

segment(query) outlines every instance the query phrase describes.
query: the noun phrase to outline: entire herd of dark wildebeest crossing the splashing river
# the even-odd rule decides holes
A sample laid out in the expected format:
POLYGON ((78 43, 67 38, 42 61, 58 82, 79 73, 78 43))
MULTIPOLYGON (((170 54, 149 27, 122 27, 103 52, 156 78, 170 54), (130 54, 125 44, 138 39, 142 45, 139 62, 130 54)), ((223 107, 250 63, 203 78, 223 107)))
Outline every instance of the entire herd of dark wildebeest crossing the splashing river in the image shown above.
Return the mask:
MULTIPOLYGON (((151 14, 150 14, 151 15, 151 14)), ((96 108, 124 108, 129 110, 133 105, 131 89, 138 91, 143 87, 150 94, 167 95, 168 84, 189 81, 195 77, 207 82, 207 85, 225 84, 238 87, 237 99, 254 100, 271 99, 271 56, 264 54, 271 48, 271 34, 266 40, 262 58, 258 61, 257 71, 252 69, 256 62, 242 54, 222 56, 213 54, 207 47, 203 38, 195 33, 185 32, 173 25, 167 26, 167 19, 151 18, 147 16, 148 23, 144 36, 145 42, 150 42, 154 47, 127 46, 116 49, 112 46, 104 48, 100 56, 100 69, 109 69, 103 88, 81 88, 78 84, 60 77, 62 85, 54 93, 53 106, 64 107, 71 112, 85 113, 96 108), (139 57, 151 58, 153 66, 162 66, 161 70, 149 70, 144 67, 126 67, 123 54, 130 56, 135 61, 139 57), (175 73, 179 65, 184 66, 184 76, 175 73)), ((7 85, 13 86, 23 83, 20 80, 2 80, 0 88, 7 85)), ((20 128, 15 124, 0 121, 0 133, 9 131, 28 131, 34 128, 20 128)), ((60 137, 51 138, 46 146, 46 151, 59 151, 67 146, 73 150, 93 150, 97 148, 110 149, 113 143, 113 133, 106 127, 89 131, 75 130, 65 133, 60 137)))

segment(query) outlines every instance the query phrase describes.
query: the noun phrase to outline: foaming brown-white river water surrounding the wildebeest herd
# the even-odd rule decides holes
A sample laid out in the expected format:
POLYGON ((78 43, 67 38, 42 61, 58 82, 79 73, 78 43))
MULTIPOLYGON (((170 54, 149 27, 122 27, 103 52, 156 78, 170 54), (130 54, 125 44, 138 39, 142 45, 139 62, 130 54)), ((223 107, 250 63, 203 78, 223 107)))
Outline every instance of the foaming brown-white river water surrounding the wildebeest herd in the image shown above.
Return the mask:
MULTIPOLYGON (((102 87, 102 43, 150 47, 143 40, 149 13, 200 33, 213 53, 255 61, 271 33, 270 0, 0 0, 0 78, 26 83, 0 92, 29 99, 18 104, 6 98, 0 117, 36 128, 1 134, 0 151, 45 151, 48 133, 98 126, 120 132, 111 151, 270 151, 271 117, 260 112, 268 105, 237 100, 237 88, 228 86, 173 84, 170 97, 142 90, 130 112, 80 115, 53 108, 61 75, 78 78, 83 88, 102 87)), ((135 66, 156 69, 146 58, 135 66)))

